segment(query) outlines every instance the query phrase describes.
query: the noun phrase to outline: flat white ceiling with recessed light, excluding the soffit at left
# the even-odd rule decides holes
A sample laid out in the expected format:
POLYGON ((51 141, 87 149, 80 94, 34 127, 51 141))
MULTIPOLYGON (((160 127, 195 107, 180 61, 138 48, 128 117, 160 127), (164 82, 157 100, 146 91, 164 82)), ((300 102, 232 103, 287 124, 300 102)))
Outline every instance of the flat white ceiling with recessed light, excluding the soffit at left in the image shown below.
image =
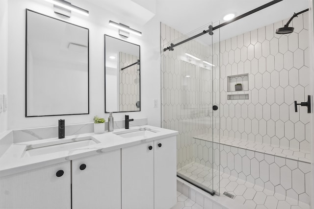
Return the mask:
MULTIPOLYGON (((229 13, 244 14, 271 0, 157 0, 157 14, 165 23, 183 34, 195 35, 208 29, 211 22, 220 21, 229 13), (205 26, 205 27, 204 27, 205 26), (197 29, 199 28, 199 29, 197 29), (196 31, 194 31, 197 29, 196 31), (191 32, 193 31, 193 32, 191 32)), ((294 12, 309 7, 308 0, 283 0, 220 29, 220 40, 289 19, 294 12)), ((202 36, 208 38, 208 36, 202 36)))

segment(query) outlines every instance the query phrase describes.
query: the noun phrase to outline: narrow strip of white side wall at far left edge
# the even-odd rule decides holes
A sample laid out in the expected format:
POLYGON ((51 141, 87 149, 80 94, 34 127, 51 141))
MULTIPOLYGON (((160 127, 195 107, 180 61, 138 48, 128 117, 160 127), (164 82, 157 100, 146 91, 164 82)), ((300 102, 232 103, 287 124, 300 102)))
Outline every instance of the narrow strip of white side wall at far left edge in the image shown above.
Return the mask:
MULTIPOLYGON (((8 0, 0 0, 0 94, 7 94, 8 73, 8 0)), ((8 112, 0 113, 0 134, 7 130, 8 112)))

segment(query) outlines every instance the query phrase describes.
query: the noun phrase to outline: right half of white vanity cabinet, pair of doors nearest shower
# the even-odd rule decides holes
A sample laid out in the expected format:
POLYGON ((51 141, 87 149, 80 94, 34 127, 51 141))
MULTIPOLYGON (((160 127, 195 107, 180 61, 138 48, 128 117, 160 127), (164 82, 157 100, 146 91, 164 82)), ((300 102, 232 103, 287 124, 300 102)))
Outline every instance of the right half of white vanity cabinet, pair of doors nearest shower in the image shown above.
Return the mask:
POLYGON ((122 209, 170 209, 176 204, 176 139, 121 149, 122 209))

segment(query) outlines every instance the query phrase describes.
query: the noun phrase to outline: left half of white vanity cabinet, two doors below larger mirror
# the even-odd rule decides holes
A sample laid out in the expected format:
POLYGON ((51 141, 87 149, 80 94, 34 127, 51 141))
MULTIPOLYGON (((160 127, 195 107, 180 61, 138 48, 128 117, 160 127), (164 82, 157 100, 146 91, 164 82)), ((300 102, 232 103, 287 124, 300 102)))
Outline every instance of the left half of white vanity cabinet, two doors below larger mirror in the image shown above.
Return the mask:
POLYGON ((121 209, 121 149, 0 178, 0 209, 101 208, 121 209))

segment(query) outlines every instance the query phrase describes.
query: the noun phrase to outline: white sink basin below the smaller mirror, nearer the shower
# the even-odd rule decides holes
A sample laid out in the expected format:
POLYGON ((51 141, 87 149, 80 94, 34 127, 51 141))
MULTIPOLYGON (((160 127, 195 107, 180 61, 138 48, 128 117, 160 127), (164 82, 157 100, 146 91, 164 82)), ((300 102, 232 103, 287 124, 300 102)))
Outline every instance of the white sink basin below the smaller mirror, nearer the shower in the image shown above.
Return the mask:
POLYGON ((129 129, 119 132, 114 132, 115 135, 118 135, 123 138, 149 138, 156 136, 156 133, 159 132, 150 128, 137 128, 137 129, 129 129))

